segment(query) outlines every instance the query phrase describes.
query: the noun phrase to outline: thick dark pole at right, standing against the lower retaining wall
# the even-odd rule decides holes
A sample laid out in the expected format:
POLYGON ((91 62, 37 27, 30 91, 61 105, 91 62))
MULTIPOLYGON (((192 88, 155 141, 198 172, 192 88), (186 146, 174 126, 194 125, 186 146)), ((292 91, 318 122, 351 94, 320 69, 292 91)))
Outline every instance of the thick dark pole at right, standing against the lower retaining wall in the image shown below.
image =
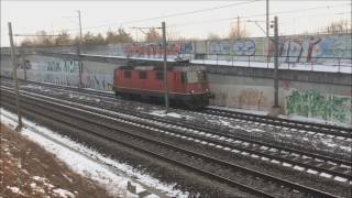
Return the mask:
POLYGON ((275 41, 275 57, 274 57, 274 108, 278 107, 278 30, 277 30, 277 16, 274 18, 274 41, 275 41))

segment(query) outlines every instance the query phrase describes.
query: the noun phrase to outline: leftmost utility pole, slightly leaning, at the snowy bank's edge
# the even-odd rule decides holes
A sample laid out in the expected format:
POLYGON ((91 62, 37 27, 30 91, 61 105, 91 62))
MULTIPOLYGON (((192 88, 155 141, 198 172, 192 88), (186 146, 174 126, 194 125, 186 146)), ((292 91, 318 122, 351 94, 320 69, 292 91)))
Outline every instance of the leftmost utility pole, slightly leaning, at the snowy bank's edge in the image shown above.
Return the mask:
POLYGON ((15 88, 15 105, 18 109, 18 120, 19 125, 15 128, 16 131, 21 130, 22 128, 22 114, 21 114, 21 107, 20 107, 20 94, 19 94, 19 80, 18 80, 18 57, 14 50, 13 44, 13 35, 12 35, 12 25, 11 22, 8 23, 9 25, 9 36, 10 36, 10 45, 11 45, 11 58, 12 58, 12 65, 13 65, 13 82, 15 88))

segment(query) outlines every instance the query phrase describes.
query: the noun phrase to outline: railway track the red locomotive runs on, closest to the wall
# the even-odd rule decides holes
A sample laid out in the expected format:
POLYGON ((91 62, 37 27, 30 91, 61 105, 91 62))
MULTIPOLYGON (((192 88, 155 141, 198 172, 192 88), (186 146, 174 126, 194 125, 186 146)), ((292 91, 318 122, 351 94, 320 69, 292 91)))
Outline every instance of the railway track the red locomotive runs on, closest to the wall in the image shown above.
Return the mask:
MULTIPOLYGON (((43 84, 43 82, 36 82, 36 81, 30 81, 30 84, 40 85, 40 86, 44 85, 45 87, 51 87, 51 88, 62 89, 62 90, 78 91, 80 94, 105 97, 106 99, 112 99, 116 101, 116 96, 113 95, 113 92, 109 92, 109 91, 100 91, 100 90, 94 90, 94 89, 78 89, 78 88, 68 87, 68 86, 57 86, 57 85, 43 84)), ((143 105, 148 106, 145 103, 143 105)), ((253 113, 223 110, 223 109, 210 108, 210 107, 206 108, 205 110, 201 110, 199 113, 204 113, 206 116, 218 116, 226 119, 238 119, 238 120, 245 120, 245 121, 257 122, 257 123, 265 123, 270 125, 296 129, 296 130, 301 130, 307 132, 314 132, 316 134, 320 133, 324 135, 334 135, 334 136, 352 139, 352 129, 338 127, 338 125, 289 120, 289 119, 277 118, 277 117, 253 114, 253 113)))

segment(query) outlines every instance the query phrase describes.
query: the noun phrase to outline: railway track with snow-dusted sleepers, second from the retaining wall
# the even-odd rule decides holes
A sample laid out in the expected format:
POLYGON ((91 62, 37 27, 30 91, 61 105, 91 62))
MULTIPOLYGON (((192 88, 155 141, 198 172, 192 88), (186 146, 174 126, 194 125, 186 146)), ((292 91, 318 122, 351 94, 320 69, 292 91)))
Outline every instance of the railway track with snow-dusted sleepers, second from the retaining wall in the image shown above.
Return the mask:
MULTIPOLYGON (((76 100, 76 102, 81 101, 76 100)), ((95 106, 97 108, 102 108, 96 106, 96 103, 91 101, 85 103, 89 106, 95 106)), ((78 108, 81 107, 78 106, 78 108)), ((106 110, 117 110, 118 112, 128 114, 129 117, 121 117, 121 114, 119 114, 119 118, 124 117, 127 121, 131 121, 130 116, 133 116, 134 118, 132 119, 132 121, 143 122, 158 130, 163 130, 161 125, 168 124, 168 130, 170 131, 168 132, 168 134, 174 135, 176 138, 188 136, 189 139, 193 139, 193 141, 198 141, 202 144, 220 146, 224 150, 229 150, 234 153, 240 153, 243 155, 261 158, 263 161, 270 161, 272 163, 282 164, 286 167, 292 167, 294 169, 321 174, 326 177, 330 175, 331 178, 337 176, 352 180, 352 163, 349 160, 333 158, 311 152, 290 148, 287 147, 287 145, 280 146, 273 143, 265 143, 262 141, 249 139, 246 136, 213 132, 212 130, 201 128, 199 125, 190 127, 189 123, 175 123, 174 121, 164 118, 153 117, 151 114, 139 113, 135 111, 131 113, 131 111, 127 111, 124 109, 114 109, 112 106, 103 108, 106 110), (151 120, 154 121, 152 125, 150 123, 151 120)), ((90 109, 88 108, 88 110, 90 109)), ((107 111, 95 111, 97 113, 106 114, 109 117, 116 116, 107 111)))

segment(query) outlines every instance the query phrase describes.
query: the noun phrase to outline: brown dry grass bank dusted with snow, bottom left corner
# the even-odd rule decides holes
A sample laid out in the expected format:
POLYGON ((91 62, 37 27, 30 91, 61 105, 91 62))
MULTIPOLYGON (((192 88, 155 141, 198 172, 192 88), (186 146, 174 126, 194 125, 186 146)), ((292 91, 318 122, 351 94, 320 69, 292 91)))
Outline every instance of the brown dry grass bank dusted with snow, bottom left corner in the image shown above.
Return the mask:
POLYGON ((55 193, 58 188, 67 190, 66 197, 111 197, 105 188, 74 173, 53 154, 3 124, 0 134, 2 197, 59 197, 55 193))

